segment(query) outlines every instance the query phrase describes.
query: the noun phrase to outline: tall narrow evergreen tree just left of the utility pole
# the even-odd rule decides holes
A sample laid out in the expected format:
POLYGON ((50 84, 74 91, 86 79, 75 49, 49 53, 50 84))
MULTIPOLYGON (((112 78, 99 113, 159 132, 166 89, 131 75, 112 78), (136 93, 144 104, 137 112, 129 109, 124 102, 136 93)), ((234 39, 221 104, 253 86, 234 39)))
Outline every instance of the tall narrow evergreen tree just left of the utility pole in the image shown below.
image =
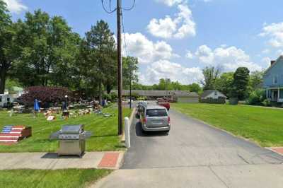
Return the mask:
POLYGON ((89 72, 98 83, 99 100, 103 95, 103 86, 108 86, 116 80, 115 40, 108 23, 100 20, 86 33, 86 43, 89 48, 89 72), (104 85, 103 85, 104 84, 104 85))

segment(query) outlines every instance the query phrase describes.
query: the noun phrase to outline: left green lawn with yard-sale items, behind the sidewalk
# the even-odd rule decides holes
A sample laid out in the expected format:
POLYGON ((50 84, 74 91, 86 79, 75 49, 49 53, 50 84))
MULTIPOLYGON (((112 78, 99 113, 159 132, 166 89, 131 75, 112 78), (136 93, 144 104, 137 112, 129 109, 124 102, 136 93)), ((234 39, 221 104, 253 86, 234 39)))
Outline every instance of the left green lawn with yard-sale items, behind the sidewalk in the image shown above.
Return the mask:
MULTIPOLYGON (((105 108, 103 112, 114 116, 86 114, 47 122, 43 114, 36 118, 33 114, 14 114, 13 117, 9 117, 7 111, 0 111, 0 129, 7 124, 23 124, 33 129, 33 136, 13 146, 0 146, 0 152, 57 151, 58 141, 50 140, 49 136, 52 132, 59 131, 64 124, 84 124, 85 130, 93 133, 86 141, 86 151, 117 151, 124 148, 120 143, 120 137, 117 136, 117 107, 105 108)), ((125 116, 129 117, 130 112, 131 110, 124 109, 125 116)))

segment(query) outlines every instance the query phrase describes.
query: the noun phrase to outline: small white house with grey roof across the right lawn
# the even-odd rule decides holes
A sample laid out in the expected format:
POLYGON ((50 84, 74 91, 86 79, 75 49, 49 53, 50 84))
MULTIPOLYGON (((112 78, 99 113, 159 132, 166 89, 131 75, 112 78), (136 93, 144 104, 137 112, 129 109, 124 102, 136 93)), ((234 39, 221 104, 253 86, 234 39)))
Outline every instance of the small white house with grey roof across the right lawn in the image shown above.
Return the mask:
POLYGON ((225 103, 226 96, 219 90, 204 90, 200 95, 200 101, 203 103, 225 103))

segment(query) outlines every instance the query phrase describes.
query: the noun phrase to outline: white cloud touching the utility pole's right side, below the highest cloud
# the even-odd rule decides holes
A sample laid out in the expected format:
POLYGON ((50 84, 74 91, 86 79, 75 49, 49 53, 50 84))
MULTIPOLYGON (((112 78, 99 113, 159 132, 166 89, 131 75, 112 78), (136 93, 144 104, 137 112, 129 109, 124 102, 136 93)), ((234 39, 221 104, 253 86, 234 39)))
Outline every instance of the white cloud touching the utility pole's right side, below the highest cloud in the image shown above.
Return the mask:
MULTIPOLYGON (((138 57, 141 64, 148 64, 159 59, 178 57, 177 54, 173 53, 171 45, 164 41, 152 42, 141 33, 125 33, 125 38, 127 41, 127 52, 131 56, 138 57)), ((122 41, 124 42, 123 39, 122 41)))

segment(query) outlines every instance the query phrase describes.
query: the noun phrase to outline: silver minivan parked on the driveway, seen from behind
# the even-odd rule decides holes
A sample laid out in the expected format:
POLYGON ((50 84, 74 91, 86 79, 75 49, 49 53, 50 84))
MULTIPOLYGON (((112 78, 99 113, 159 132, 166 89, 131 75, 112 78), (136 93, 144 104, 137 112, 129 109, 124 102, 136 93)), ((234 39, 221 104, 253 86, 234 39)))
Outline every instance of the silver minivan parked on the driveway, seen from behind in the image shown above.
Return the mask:
POLYGON ((152 105, 146 106, 139 113, 139 122, 143 131, 170 131, 170 117, 166 107, 152 105))

